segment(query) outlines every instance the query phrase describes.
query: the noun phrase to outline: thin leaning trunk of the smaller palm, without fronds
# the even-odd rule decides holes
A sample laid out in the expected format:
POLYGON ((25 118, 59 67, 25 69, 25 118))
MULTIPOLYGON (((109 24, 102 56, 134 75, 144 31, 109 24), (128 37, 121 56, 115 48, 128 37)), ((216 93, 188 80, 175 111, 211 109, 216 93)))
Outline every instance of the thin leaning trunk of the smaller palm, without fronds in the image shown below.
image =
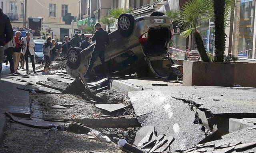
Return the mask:
POLYGON ((204 47, 204 41, 198 31, 194 31, 194 37, 196 41, 196 49, 198 50, 203 62, 210 62, 209 57, 207 56, 206 49, 204 47))

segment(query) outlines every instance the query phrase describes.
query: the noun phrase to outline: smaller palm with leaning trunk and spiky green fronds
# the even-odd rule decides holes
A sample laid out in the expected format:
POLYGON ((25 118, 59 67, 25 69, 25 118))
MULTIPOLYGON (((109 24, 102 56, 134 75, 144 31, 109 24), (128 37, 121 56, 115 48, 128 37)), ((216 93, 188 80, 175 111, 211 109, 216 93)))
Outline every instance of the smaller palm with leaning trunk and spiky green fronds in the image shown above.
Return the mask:
POLYGON ((208 10, 208 0, 190 0, 184 4, 184 7, 176 16, 178 24, 182 25, 185 29, 185 31, 181 32, 181 35, 184 37, 188 37, 190 34, 194 35, 196 48, 203 62, 210 62, 210 59, 207 56, 202 36, 197 31, 197 27, 198 21, 209 18, 208 10))

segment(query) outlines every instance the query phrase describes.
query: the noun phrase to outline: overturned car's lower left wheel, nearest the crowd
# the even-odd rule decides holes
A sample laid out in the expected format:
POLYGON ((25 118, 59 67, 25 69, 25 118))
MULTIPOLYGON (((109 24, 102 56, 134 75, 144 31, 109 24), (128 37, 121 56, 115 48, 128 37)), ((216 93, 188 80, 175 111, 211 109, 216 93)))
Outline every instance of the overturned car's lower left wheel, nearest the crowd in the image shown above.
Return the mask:
POLYGON ((76 70, 79 65, 80 65, 80 61, 81 61, 81 55, 80 55, 81 49, 78 47, 71 47, 70 49, 68 49, 68 53, 67 53, 67 65, 68 67, 70 67, 72 70, 76 70))

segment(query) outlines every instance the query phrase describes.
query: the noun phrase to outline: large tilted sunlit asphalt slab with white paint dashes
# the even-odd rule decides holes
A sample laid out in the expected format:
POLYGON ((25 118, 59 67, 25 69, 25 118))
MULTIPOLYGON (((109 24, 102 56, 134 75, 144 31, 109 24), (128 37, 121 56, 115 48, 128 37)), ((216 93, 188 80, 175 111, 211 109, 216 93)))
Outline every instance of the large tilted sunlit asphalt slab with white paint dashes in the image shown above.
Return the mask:
POLYGON ((168 90, 128 92, 135 114, 142 126, 154 126, 157 135, 174 136, 171 150, 184 150, 204 139, 202 125, 194 124, 196 112, 168 90))

